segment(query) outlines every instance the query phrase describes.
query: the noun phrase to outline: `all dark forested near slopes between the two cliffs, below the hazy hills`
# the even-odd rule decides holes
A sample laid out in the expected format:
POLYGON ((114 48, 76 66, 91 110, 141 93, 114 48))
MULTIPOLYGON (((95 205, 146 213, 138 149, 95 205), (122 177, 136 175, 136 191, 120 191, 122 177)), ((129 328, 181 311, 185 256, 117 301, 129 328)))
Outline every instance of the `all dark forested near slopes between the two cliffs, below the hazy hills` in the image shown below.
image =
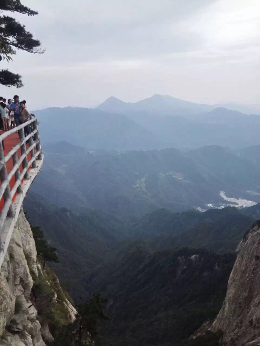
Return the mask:
POLYGON ((102 346, 218 344, 218 333, 189 337, 220 310, 235 249, 259 204, 116 217, 95 209, 76 214, 32 193, 27 201, 32 222, 37 220, 59 250, 61 263, 51 266, 81 305, 68 326, 59 307, 43 310, 50 324, 63 325, 54 333, 55 345, 79 345, 80 333, 84 346, 92 345, 90 334, 95 338, 96 333, 96 345, 102 346), (102 304, 109 320, 91 315, 84 303, 95 292, 108 299, 102 304), (87 329, 80 332, 85 322, 87 329))

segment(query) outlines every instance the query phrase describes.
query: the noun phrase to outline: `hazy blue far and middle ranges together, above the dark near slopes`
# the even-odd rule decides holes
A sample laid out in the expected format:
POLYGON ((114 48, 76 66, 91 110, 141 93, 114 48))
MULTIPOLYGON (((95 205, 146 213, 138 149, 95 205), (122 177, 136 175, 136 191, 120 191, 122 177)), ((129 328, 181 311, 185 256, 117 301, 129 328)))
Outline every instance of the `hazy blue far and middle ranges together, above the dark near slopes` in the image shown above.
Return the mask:
POLYGON ((260 115, 158 94, 36 114, 46 155, 32 191, 49 203, 142 215, 260 202, 260 115))

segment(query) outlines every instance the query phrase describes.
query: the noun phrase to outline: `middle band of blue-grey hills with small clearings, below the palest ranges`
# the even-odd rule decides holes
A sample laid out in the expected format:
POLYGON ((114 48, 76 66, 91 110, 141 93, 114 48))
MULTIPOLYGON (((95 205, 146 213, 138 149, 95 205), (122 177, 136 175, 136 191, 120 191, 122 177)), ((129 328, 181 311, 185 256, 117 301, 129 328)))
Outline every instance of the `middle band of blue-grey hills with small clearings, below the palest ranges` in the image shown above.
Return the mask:
POLYGON ((74 212, 144 215, 159 208, 236 205, 220 191, 260 202, 260 167, 218 146, 98 154, 62 142, 46 146, 44 160, 31 190, 74 212))

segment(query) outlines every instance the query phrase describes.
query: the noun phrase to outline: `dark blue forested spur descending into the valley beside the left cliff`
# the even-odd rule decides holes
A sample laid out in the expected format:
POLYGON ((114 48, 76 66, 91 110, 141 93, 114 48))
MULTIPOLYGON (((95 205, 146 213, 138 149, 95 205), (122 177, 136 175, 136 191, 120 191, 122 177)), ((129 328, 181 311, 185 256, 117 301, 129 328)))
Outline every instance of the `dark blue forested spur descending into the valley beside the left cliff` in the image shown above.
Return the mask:
POLYGON ((32 193, 28 193, 24 206, 31 224, 40 225, 50 242, 48 245, 58 248, 61 263, 50 265, 62 286, 70 295, 75 292, 73 287, 77 287, 78 297, 85 301, 88 296, 80 283, 81 277, 102 263, 115 244, 125 238, 128 224, 101 210, 86 210, 76 215, 32 193))

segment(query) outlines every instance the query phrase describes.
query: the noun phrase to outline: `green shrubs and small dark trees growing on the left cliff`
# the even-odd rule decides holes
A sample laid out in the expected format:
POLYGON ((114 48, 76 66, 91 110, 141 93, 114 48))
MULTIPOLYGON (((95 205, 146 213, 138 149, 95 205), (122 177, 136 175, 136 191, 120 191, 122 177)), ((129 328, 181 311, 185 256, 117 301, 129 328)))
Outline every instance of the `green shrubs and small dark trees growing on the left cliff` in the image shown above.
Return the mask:
MULTIPOLYGON (((42 263, 42 274, 34 279, 31 300, 34 303, 38 317, 48 324, 55 337, 53 345, 94 345, 98 339, 97 321, 106 319, 103 305, 106 302, 99 294, 93 294, 88 301, 78 306, 76 320, 71 323, 66 300, 74 305, 70 295, 61 288, 58 277, 47 266, 46 262, 59 263, 56 248, 49 246, 43 239, 41 227, 32 227, 38 260, 42 263), (61 344, 60 344, 61 342, 61 344)), ((28 257, 28 256, 27 256, 28 257)), ((30 258, 27 258, 27 263, 30 258)), ((29 265, 29 264, 28 264, 29 265)), ((16 301, 15 308, 19 309, 16 301)))

